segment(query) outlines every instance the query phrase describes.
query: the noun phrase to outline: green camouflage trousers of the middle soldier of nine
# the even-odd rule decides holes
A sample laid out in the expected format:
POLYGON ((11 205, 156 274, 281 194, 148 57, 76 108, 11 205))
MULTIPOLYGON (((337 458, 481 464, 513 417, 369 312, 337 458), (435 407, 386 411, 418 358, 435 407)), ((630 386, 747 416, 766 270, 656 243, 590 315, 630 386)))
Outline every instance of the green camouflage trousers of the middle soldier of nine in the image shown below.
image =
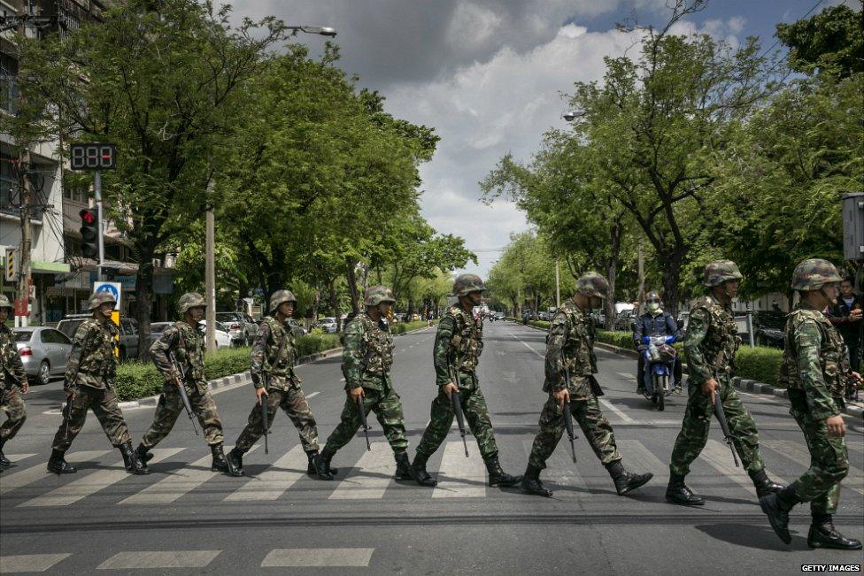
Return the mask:
MULTIPOLYGON (((373 390, 363 388, 363 410, 368 418, 369 412, 375 413, 375 418, 381 424, 387 442, 394 452, 405 452, 408 448, 408 440, 405 438, 405 417, 402 415, 402 399, 396 390, 386 387, 386 390, 373 390)), ((357 434, 360 427, 360 414, 357 403, 351 400, 351 396, 345 399, 345 407, 342 410, 342 421, 336 426, 324 449, 334 454, 345 444, 351 442, 351 438, 357 434)))

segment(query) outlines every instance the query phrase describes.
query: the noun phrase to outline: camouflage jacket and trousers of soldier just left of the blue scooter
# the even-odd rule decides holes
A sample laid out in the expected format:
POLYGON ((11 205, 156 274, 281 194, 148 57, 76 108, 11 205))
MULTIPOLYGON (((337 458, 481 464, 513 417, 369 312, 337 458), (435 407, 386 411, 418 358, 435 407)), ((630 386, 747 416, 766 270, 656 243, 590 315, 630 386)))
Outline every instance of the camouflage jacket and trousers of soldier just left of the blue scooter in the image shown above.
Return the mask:
POLYGON ((534 439, 528 464, 546 467, 564 434, 564 412, 552 396, 565 388, 564 371, 570 374, 570 411, 588 438, 591 449, 604 465, 621 460, 615 434, 591 392, 590 376, 597 373, 594 355, 594 322, 573 301, 561 304, 546 339, 546 378, 543 391, 549 394, 540 413, 540 432, 534 439))

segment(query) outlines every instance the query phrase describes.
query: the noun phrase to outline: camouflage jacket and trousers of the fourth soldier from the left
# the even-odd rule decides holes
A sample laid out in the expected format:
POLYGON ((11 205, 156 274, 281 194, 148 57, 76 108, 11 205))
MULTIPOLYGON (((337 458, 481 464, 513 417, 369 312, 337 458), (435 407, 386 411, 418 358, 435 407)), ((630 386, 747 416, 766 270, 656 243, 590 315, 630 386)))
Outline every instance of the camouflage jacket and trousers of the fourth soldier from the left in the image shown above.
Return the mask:
MULTIPOLYGON (((291 297, 293 298, 293 295, 291 297)), ((297 357, 297 342, 290 328, 280 324, 273 316, 267 316, 261 322, 258 336, 252 345, 252 382, 256 389, 265 388, 265 377, 268 378, 267 427, 273 422, 276 410, 282 408, 294 426, 297 426, 304 451, 311 454, 318 451, 318 428, 312 409, 300 388, 301 381, 294 372, 297 357)), ((235 450, 240 454, 245 453, 262 434, 264 426, 261 408, 256 403, 249 413, 248 424, 237 439, 235 450)))

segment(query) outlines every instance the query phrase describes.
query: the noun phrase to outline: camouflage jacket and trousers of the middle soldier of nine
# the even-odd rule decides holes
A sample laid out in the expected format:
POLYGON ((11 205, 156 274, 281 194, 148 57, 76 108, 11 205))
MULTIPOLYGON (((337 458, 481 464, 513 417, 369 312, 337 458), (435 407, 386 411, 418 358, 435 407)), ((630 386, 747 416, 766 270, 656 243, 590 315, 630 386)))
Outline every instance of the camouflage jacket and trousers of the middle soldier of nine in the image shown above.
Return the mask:
MULTIPOLYGON (((363 388, 363 411, 374 411, 387 441, 394 452, 405 452, 405 417, 402 400, 390 380, 393 365, 393 337, 390 328, 381 319, 375 322, 367 313, 360 312, 344 331, 343 373, 345 390, 363 388)), ((360 427, 358 404, 345 400, 342 421, 327 439, 324 454, 331 457, 336 450, 351 442, 360 427)))

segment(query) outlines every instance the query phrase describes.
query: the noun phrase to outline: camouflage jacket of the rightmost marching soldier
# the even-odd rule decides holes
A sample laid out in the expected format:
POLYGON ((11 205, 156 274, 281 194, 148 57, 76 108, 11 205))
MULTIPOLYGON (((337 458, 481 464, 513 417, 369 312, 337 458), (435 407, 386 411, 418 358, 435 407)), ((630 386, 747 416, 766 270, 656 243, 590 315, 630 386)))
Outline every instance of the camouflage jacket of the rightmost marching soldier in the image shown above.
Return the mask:
POLYGON ((814 419, 837 416, 843 406, 845 343, 821 311, 800 306, 786 320, 780 381, 803 390, 814 419))

